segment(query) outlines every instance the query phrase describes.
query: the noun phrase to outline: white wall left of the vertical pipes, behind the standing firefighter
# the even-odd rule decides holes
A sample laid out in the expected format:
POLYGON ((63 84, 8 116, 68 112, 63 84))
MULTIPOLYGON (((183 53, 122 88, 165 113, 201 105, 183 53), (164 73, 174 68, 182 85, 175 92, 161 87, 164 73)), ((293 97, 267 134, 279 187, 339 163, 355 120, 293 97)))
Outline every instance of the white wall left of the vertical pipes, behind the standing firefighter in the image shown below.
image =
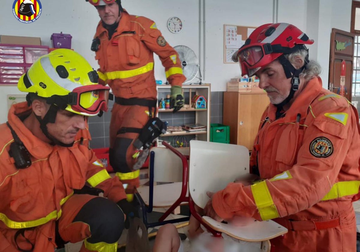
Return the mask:
MULTIPOLYGON (((42 0, 40 18, 30 24, 17 21, 12 14, 13 0, 2 0, 1 6, 9 11, 0 15, 0 35, 41 37, 42 45, 51 46, 52 33, 72 35, 72 48, 83 55, 96 69, 95 53, 90 50, 96 26, 100 20, 94 6, 85 0, 42 0)), ((134 15, 153 19, 170 45, 186 45, 196 54, 199 52, 199 3, 196 0, 148 1, 122 0, 122 6, 134 15), (167 20, 178 16, 183 20, 183 30, 173 34, 167 29, 167 20)), ((155 57, 155 76, 166 81, 165 71, 158 57, 155 57)), ((17 87, 0 87, 0 123, 7 120, 7 94, 23 94, 17 87)))

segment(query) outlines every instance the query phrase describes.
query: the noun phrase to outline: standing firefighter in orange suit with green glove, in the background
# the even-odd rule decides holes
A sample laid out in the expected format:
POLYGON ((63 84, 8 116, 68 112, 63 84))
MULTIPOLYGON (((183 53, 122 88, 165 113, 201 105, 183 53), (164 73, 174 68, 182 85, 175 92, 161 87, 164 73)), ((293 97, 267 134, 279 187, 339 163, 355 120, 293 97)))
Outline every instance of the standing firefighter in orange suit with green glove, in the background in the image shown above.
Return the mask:
POLYGON ((123 184, 127 184, 131 201, 134 187, 139 186, 139 170, 133 167, 144 162, 138 158, 139 150, 133 143, 149 118, 156 114, 153 53, 159 55, 165 67, 174 112, 183 106, 181 85, 186 78, 179 55, 154 21, 130 15, 120 0, 87 1, 96 7, 101 18, 91 46, 100 65, 99 83, 108 84, 116 96, 110 123, 110 164, 123 184))

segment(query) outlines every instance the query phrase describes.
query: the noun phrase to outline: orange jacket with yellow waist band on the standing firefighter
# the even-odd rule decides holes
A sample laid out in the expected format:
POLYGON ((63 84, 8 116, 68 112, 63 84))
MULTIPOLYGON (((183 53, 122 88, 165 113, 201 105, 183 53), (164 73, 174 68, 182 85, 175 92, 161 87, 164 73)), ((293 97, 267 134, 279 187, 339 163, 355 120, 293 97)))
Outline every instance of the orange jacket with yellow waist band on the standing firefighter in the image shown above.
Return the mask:
POLYGON ((96 37, 100 39, 95 56, 100 65, 99 82, 109 84, 117 97, 157 99, 153 53, 159 55, 171 85, 181 86, 186 80, 179 55, 148 18, 124 10, 110 40, 102 21, 96 37))

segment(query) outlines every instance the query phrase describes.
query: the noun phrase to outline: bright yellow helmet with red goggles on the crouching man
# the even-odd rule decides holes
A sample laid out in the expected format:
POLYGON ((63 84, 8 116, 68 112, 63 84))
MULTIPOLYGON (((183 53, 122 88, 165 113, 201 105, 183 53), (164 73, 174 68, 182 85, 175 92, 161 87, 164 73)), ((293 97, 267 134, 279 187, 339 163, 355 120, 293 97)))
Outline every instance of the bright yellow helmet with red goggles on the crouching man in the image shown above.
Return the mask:
POLYGON ((18 89, 84 116, 108 110, 110 88, 99 85, 96 71, 70 49, 57 49, 37 59, 21 76, 18 89))

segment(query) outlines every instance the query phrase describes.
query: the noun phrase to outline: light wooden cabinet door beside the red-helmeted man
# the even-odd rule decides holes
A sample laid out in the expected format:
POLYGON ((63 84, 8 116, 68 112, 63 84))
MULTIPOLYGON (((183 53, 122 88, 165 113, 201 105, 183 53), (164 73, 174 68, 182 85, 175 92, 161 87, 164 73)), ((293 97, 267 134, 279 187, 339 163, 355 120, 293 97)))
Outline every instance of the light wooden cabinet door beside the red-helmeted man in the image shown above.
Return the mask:
POLYGON ((240 94, 237 144, 252 150, 262 113, 269 104, 264 94, 240 94))

